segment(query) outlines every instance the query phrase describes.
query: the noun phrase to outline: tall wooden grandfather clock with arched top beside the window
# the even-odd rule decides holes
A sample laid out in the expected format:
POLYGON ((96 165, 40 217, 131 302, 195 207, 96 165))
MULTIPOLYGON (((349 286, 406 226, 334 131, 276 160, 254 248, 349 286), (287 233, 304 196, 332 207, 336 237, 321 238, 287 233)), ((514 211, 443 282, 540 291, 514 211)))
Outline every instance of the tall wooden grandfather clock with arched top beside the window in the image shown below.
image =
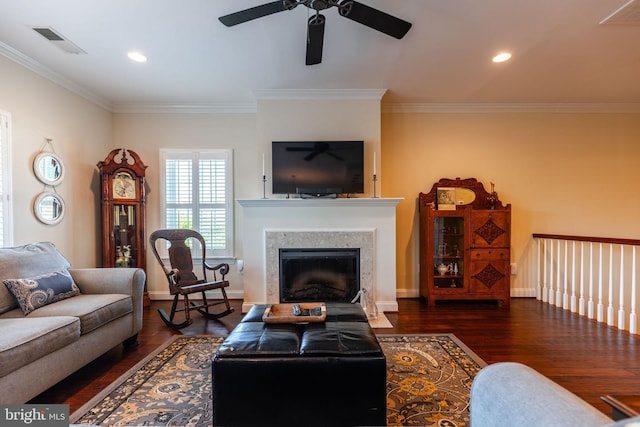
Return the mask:
MULTIPOLYGON (((102 192, 102 266, 146 269, 145 170, 133 151, 117 148, 98 162, 102 192)), ((145 302, 148 299, 145 289, 145 302)))

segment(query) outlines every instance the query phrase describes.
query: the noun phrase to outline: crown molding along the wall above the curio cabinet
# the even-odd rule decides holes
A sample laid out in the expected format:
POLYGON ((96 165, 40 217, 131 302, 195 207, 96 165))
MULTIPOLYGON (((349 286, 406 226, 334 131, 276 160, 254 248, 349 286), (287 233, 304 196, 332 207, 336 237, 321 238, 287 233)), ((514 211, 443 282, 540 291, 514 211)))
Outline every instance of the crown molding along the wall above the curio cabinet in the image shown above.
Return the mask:
POLYGON ((383 113, 640 113, 640 103, 389 103, 383 113))

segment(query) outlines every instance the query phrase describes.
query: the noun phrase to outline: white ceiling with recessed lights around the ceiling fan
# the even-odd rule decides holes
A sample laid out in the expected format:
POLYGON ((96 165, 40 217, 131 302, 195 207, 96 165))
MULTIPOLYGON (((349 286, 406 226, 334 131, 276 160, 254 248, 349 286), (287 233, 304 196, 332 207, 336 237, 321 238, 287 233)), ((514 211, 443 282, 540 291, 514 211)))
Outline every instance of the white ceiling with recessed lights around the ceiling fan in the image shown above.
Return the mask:
POLYGON ((0 0, 0 54, 116 111, 248 105, 283 89, 387 89, 394 104, 640 103, 640 0, 624 9, 630 25, 600 24, 629 0, 360 0, 413 27, 396 40, 328 9, 314 66, 304 6, 218 21, 267 1, 0 0), (131 62, 133 49, 148 62, 131 62), (513 59, 493 64, 501 50, 513 59))

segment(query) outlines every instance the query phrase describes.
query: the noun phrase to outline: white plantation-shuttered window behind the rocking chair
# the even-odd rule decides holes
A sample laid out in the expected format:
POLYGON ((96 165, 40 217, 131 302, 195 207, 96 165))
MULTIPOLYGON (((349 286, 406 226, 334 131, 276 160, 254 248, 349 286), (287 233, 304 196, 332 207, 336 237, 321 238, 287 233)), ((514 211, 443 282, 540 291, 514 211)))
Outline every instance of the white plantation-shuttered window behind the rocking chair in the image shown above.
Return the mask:
POLYGON ((160 157, 165 228, 197 230, 208 257, 232 257, 232 151, 162 150, 160 157))

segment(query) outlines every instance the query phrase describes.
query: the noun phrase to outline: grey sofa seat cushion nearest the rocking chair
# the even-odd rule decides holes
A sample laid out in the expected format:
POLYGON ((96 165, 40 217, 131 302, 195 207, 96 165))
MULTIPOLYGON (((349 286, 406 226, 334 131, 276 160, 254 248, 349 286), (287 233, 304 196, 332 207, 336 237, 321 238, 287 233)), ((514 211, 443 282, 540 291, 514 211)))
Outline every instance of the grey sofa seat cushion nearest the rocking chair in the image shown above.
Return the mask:
POLYGON ((80 294, 32 312, 29 317, 75 316, 82 335, 133 312, 131 296, 124 294, 80 294))

